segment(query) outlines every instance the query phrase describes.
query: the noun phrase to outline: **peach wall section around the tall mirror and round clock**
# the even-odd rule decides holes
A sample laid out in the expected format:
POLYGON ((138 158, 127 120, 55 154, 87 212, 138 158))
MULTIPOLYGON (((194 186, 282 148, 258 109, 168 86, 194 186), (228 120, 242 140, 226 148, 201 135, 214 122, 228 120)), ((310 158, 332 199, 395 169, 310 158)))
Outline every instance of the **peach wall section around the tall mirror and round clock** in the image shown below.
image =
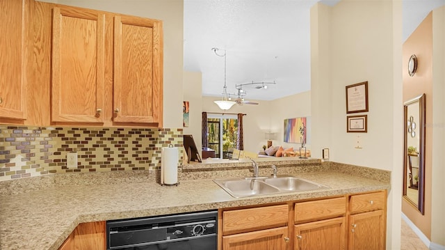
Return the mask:
MULTIPOLYGON (((403 68, 407 69, 408 59, 412 54, 418 58, 416 74, 410 77, 403 70, 403 102, 425 93, 426 95, 426 125, 432 124, 432 13, 419 24, 416 30, 403 43, 403 68)), ((402 212, 431 239, 431 160, 432 160, 432 130, 425 130, 425 214, 420 214, 411 203, 402 201, 402 212)))

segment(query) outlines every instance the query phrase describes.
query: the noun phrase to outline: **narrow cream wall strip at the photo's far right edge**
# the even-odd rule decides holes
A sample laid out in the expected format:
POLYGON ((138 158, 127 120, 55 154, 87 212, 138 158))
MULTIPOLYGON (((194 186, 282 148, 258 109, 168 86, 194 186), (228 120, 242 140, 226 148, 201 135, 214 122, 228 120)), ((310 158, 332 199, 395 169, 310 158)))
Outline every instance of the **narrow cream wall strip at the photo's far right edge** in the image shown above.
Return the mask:
POLYGON ((431 241, 445 246, 445 6, 432 11, 432 51, 431 241))

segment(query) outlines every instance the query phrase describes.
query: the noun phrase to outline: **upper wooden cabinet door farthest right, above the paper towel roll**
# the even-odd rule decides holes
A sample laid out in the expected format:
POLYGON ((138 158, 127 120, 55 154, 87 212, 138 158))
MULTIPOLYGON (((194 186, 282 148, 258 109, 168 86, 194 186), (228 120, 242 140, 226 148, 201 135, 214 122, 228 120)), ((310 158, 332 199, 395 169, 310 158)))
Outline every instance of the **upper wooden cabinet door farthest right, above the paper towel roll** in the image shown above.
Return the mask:
POLYGON ((113 122, 161 127, 162 23, 116 15, 114 25, 113 122))

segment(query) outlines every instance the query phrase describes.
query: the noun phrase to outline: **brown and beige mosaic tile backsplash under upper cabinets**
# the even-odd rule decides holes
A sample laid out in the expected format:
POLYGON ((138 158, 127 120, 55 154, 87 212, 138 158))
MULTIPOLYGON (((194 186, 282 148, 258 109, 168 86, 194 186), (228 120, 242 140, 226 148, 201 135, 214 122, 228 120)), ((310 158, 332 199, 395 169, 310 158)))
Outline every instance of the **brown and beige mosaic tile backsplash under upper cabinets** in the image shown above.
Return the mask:
POLYGON ((149 170, 161 167, 161 149, 179 148, 182 128, 17 127, 0 125, 0 181, 52 173, 149 170), (77 167, 66 155, 76 152, 77 167))

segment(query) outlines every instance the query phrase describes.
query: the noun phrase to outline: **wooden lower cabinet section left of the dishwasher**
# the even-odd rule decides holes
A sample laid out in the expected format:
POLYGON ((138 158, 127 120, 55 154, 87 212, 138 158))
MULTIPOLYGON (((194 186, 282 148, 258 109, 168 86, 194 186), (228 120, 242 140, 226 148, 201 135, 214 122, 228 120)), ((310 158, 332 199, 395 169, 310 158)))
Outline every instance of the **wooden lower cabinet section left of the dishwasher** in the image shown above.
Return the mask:
POLYGON ((106 221, 79 224, 59 248, 74 249, 106 249, 106 221))

